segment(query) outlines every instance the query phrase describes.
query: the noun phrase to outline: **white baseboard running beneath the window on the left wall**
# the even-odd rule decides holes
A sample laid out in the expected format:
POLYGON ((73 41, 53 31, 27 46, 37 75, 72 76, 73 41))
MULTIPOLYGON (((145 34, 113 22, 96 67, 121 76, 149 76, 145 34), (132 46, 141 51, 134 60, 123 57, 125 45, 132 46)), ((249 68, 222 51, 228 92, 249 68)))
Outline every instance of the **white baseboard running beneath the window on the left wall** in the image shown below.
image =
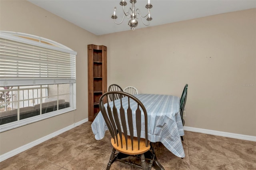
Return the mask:
POLYGON ((82 121, 76 122, 73 125, 70 125, 68 127, 62 128, 62 129, 60 129, 60 130, 58 130, 56 132, 48 134, 48 135, 46 135, 46 136, 44 136, 44 137, 42 137, 40 139, 34 140, 33 142, 30 142, 28 144, 20 146, 19 148, 11 150, 10 152, 2 154, 2 155, 0 155, 0 162, 2 162, 3 160, 6 160, 6 159, 8 159, 8 158, 10 158, 10 157, 12 157, 12 156, 14 156, 16 154, 19 154, 19 153, 21 153, 21 152, 23 152, 23 151, 25 151, 25 150, 27 150, 29 148, 32 148, 33 146, 36 146, 36 145, 38 145, 38 144, 40 144, 40 143, 42 143, 42 142, 44 142, 46 140, 49 140, 50 138, 58 136, 59 134, 62 134, 63 132, 66 132, 66 131, 74 128, 74 127, 82 125, 83 123, 86 123, 86 122, 88 122, 88 118, 86 118, 86 119, 84 119, 82 121))

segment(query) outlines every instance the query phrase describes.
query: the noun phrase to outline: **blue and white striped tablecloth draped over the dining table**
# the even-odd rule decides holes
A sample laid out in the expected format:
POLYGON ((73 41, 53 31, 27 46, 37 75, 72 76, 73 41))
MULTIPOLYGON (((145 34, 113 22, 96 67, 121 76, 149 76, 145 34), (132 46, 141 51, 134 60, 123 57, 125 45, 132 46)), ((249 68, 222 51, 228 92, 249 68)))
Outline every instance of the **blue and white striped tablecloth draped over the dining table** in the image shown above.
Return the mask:
MULTIPOLYGON (((180 139, 180 136, 184 135, 180 118, 180 98, 171 95, 152 94, 134 96, 143 103, 148 113, 148 140, 162 142, 174 155, 184 158, 185 153, 180 139)), ((118 102, 115 102, 115 105, 117 106, 118 102)), ((117 107, 117 109, 119 108, 117 107)), ((92 132, 95 138, 100 140, 105 136, 106 130, 108 127, 101 112, 99 112, 92 122, 92 132)))

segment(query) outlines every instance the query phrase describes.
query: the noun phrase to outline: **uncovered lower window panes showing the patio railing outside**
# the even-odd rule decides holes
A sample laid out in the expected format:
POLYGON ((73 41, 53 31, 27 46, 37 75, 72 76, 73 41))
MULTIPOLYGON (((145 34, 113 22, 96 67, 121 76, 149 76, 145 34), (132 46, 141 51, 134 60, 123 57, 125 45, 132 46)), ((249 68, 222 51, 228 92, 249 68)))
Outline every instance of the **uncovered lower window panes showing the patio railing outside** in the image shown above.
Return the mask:
POLYGON ((70 84, 0 87, 0 125, 70 107, 70 84))

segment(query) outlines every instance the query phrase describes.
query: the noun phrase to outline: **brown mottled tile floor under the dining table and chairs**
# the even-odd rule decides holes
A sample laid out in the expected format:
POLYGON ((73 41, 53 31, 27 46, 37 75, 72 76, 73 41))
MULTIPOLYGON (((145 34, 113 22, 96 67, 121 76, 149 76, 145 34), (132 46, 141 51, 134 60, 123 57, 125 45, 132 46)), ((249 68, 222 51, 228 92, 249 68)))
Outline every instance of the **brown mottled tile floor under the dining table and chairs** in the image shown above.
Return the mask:
MULTIPOLYGON (((107 132, 96 140, 90 125, 86 122, 4 160, 0 170, 105 170, 111 137, 107 132)), ((256 142, 185 131, 184 159, 157 145, 156 155, 166 170, 256 170, 256 142)), ((138 168, 114 162, 110 169, 138 168)))

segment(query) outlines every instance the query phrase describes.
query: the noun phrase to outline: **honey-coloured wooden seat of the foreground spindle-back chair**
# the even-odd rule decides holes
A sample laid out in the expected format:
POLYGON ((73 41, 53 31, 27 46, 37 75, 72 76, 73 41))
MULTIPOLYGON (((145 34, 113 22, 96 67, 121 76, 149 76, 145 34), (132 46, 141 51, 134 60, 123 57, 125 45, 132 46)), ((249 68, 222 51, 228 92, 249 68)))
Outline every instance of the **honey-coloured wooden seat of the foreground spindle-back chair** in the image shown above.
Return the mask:
POLYGON ((126 142, 125 142, 124 134, 122 134, 123 148, 121 147, 121 140, 120 140, 119 135, 118 135, 118 146, 117 146, 117 142, 116 143, 114 142, 114 138, 111 138, 111 144, 119 152, 122 152, 122 153, 128 154, 128 155, 142 154, 142 153, 150 150, 150 141, 148 141, 148 147, 146 147, 145 139, 140 138, 140 150, 138 150, 138 139, 136 137, 134 137, 133 140, 134 140, 133 141, 133 150, 132 150, 132 142, 131 142, 130 136, 128 136, 128 141, 127 141, 128 146, 127 146, 127 150, 126 150, 126 142))

